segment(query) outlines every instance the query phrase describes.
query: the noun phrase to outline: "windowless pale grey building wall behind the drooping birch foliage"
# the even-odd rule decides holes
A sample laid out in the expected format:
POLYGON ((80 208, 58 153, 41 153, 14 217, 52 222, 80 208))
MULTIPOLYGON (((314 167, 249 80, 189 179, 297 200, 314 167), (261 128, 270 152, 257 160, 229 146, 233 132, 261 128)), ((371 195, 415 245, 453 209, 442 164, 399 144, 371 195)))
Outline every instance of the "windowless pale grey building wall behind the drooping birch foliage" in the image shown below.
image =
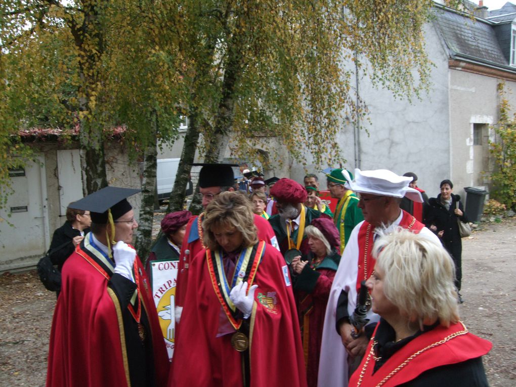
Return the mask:
MULTIPOLYGON (((432 25, 425 27, 425 34, 426 50, 435 65, 429 93, 423 92, 422 100, 413 98, 410 103, 407 99, 395 99, 389 90, 373 87, 368 78, 361 76, 359 94, 369 115, 368 120, 361 121, 360 153, 355 151, 352 125, 343 126, 337 140, 343 158, 347 159, 343 167, 350 171, 359 167, 389 169, 398 174, 414 172, 418 185, 433 196, 442 176, 448 175, 450 169, 448 61, 432 25), (360 165, 356 165, 356 159, 360 165)), ((309 165, 308 169, 315 167, 309 165)))

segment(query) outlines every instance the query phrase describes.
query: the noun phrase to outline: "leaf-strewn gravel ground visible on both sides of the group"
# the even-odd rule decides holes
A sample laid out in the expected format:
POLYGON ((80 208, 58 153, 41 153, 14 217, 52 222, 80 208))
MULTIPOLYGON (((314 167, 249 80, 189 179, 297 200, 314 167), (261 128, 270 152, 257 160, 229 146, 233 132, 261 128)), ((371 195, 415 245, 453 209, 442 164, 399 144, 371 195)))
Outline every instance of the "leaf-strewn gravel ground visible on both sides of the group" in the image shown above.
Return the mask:
MULTIPOLYGON (((164 214, 157 213, 159 225, 164 214)), ((158 226, 159 227, 159 226, 158 226)), ((492 387, 516 385, 516 218, 482 223, 463 239, 461 318, 493 349, 484 358, 492 387)), ((35 270, 0 275, 0 386, 44 386, 55 294, 35 270)))

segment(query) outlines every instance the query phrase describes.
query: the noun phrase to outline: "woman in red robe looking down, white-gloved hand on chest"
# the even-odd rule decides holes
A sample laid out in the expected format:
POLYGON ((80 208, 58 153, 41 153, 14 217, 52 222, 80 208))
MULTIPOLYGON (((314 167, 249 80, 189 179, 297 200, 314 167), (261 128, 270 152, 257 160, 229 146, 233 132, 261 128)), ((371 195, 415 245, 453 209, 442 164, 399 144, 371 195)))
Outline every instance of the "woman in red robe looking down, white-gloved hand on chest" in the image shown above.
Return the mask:
POLYGON ((238 192, 206 207, 169 386, 307 385, 288 267, 253 218, 238 192))

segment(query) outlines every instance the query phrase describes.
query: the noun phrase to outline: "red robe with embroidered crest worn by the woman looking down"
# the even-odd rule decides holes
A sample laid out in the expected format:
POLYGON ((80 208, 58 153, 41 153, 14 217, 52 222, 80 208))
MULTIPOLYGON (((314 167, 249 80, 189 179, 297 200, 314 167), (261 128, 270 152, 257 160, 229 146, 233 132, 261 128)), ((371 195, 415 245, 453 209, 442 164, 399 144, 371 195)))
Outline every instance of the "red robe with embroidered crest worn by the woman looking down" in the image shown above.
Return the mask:
MULTIPOLYGON (((231 346, 234 329, 229 318, 221 315, 204 251, 190 262, 188 277, 181 334, 176 339, 168 385, 241 387, 241 354, 231 346), (219 326, 229 327, 231 332, 216 337, 219 326)), ((250 317, 252 387, 307 385, 289 281, 282 255, 267 244, 253 281, 258 287, 250 317)))

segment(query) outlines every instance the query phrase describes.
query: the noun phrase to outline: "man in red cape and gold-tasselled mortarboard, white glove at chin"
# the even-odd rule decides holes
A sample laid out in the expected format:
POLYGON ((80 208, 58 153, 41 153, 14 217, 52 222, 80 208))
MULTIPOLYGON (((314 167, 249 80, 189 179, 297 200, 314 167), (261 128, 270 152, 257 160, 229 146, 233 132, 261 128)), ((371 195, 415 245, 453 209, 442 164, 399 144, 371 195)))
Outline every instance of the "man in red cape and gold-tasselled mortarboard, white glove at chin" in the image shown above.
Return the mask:
POLYGON ((130 245, 138 227, 125 198, 106 187, 70 206, 89 210, 91 232, 62 270, 46 385, 162 386, 168 356, 149 282, 130 245))

